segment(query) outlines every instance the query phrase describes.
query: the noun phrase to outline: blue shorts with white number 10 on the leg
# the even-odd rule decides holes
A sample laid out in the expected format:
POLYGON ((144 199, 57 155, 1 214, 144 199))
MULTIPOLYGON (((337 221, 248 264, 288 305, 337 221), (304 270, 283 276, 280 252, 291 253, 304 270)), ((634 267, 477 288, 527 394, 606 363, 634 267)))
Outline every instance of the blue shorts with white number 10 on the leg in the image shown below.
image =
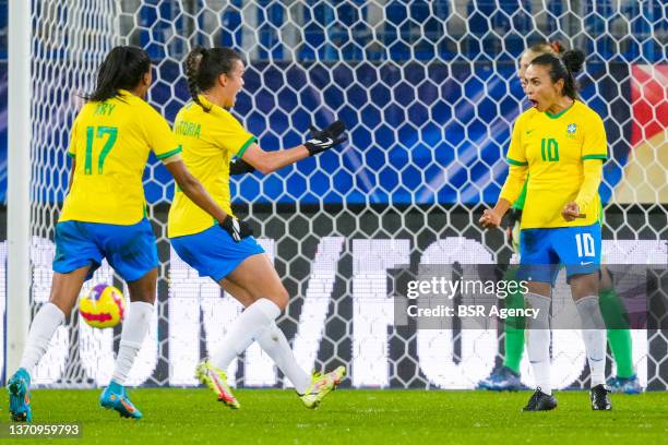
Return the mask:
POLYGON ((600 225, 523 229, 520 232, 517 279, 554 286, 560 266, 566 279, 600 268, 600 225))

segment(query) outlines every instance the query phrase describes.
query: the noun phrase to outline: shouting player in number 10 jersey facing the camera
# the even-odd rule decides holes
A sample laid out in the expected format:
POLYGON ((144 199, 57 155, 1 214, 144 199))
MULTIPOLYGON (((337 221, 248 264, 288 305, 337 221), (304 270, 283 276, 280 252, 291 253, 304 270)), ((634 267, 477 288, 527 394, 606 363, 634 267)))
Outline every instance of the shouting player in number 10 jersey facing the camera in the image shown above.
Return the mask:
POLYGON ((559 264, 565 265, 592 372, 592 408, 609 410, 605 387, 606 337, 598 305, 600 225, 598 185, 607 142, 603 121, 577 99, 574 74, 582 51, 535 58, 526 69, 525 93, 532 108, 520 116, 508 153, 509 177, 493 209, 480 222, 498 227, 521 193, 528 175, 522 215, 520 279, 528 281, 528 304, 538 309, 530 321, 528 354, 537 389, 525 411, 557 406, 550 384, 549 312, 559 264))

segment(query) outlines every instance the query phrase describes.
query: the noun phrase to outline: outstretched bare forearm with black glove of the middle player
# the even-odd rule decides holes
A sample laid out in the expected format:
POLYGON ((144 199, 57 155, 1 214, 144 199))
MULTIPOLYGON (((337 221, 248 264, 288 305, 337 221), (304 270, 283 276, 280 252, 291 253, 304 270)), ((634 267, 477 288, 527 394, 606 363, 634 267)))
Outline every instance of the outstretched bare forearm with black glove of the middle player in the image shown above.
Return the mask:
POLYGON ((336 121, 322 131, 311 129, 309 141, 293 148, 275 152, 265 152, 258 144, 251 144, 243 153, 243 160, 263 175, 269 175, 345 142, 346 137, 343 134, 345 130, 346 125, 342 121, 336 121))

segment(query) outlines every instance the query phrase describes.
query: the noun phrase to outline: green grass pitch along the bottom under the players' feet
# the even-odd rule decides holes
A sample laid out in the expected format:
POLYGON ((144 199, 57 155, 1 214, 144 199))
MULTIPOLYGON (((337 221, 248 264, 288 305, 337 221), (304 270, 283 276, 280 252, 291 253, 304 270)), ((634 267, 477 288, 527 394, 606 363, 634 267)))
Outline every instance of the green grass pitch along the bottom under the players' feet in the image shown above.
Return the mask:
MULTIPOLYGON (((134 389, 130 397, 144 413, 140 421, 98 408, 97 390, 32 394, 35 423, 82 425, 83 437, 63 444, 609 445, 656 444, 668 434, 668 393, 612 395, 612 412, 593 412, 588 393, 558 392, 556 411, 523 413, 529 393, 341 389, 309 411, 290 390, 247 389, 236 392, 241 409, 232 411, 207 389, 134 389)), ((7 409, 4 396, 2 423, 7 409)))

